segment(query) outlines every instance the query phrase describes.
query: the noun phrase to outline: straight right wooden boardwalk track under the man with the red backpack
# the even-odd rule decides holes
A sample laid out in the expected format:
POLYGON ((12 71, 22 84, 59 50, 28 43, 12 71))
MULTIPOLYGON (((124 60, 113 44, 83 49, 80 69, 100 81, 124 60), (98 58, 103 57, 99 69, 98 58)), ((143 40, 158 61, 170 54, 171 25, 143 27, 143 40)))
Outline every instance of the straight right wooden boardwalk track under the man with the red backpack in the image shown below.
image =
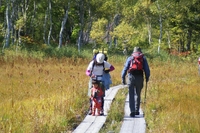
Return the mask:
POLYGON ((125 115, 120 133, 145 133, 146 122, 142 109, 140 109, 140 115, 136 115, 134 118, 130 117, 129 95, 126 97, 124 111, 125 115))

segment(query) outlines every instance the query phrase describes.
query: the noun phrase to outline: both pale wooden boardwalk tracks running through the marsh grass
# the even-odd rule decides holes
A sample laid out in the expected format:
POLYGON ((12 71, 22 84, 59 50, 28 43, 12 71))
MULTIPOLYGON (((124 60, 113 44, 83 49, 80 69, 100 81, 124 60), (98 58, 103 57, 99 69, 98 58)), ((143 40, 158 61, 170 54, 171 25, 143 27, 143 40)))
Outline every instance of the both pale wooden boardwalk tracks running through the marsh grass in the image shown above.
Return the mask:
MULTIPOLYGON (((107 112, 110 109, 110 105, 117 94, 117 91, 125 87, 127 87, 127 85, 118 85, 107 90, 104 98, 104 116, 87 115, 73 133, 98 133, 106 121, 107 112)), ((129 117, 129 114, 130 111, 127 96, 125 103, 125 116, 120 133, 145 133, 145 121, 143 115, 131 118, 129 117)))

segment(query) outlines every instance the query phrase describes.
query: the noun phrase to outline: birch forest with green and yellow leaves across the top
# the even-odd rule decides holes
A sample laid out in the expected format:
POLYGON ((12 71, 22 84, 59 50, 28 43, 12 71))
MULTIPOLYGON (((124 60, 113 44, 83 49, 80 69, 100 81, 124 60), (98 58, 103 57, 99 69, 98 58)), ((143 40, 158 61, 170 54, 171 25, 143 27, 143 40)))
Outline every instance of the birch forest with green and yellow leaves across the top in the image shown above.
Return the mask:
POLYGON ((0 46, 199 51, 198 0, 0 0, 0 46))

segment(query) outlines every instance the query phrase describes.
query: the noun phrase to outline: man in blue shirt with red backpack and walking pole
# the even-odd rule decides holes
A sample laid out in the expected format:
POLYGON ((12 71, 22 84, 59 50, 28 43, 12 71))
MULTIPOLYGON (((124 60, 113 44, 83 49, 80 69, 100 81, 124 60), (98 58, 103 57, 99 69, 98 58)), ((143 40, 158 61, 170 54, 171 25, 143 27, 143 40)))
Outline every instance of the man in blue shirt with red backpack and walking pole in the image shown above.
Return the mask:
POLYGON ((143 82, 144 82, 143 73, 145 74, 146 82, 149 81, 150 77, 149 65, 145 56, 143 56, 140 47, 135 47, 132 55, 128 57, 126 60, 121 75, 122 84, 126 84, 125 76, 127 73, 128 73, 127 85, 129 89, 129 107, 131 112, 130 116, 135 117, 135 115, 140 114, 139 109, 141 100, 141 90, 143 88, 143 82), (139 55, 141 60, 139 58, 136 58, 136 55, 139 55))

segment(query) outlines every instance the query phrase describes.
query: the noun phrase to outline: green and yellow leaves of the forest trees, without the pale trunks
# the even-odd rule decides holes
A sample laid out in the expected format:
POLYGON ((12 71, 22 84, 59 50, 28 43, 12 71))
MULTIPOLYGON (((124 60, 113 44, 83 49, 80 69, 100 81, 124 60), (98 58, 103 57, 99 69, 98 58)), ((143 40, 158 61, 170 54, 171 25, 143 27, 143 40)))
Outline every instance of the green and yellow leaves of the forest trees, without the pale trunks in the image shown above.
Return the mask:
MULTIPOLYGON (((30 47, 43 47, 44 38, 47 38, 47 34, 50 30, 50 24, 52 20, 51 39, 54 42, 59 40, 59 32, 63 17, 66 11, 68 11, 68 18, 63 30, 63 42, 69 41, 71 45, 76 45, 77 38, 79 36, 80 29, 83 30, 83 42, 88 41, 95 42, 97 44, 103 44, 106 35, 110 34, 110 37, 117 37, 117 42, 120 49, 124 46, 133 47, 140 45, 142 47, 148 46, 149 37, 148 32, 151 31, 152 44, 158 41, 160 36, 160 24, 162 24, 162 38, 161 45, 167 46, 168 41, 171 42, 173 48, 182 47, 186 49, 188 42, 191 40, 191 44, 196 44, 199 39, 200 29, 200 17, 199 17, 199 1, 142 1, 142 0, 126 0, 126 1, 84 1, 82 4, 78 4, 77 1, 70 1, 68 9, 68 0, 65 1, 37 1, 20 4, 10 3, 10 11, 15 10, 15 6, 22 8, 26 12, 20 12, 15 10, 15 17, 12 18, 14 26, 14 35, 12 37, 17 40, 18 29, 21 29, 23 35, 31 38, 33 42, 37 42, 38 45, 27 46, 30 47), (51 10, 49 6, 51 2, 51 10), (37 8, 35 8, 37 7, 37 8), (61 8, 60 8, 61 7, 61 8), (81 18, 80 9, 84 8, 84 18, 81 18), (118 24, 115 24, 115 15, 119 15, 118 24), (46 18, 45 18, 46 17, 46 18), (161 18, 161 22, 158 21, 161 18), (83 22, 80 22, 83 20, 83 22), (81 24, 80 24, 81 23, 81 24), (106 27, 107 25, 110 27, 106 27), (91 27, 92 26, 92 27, 91 27), (107 29, 106 29, 107 28, 107 29), (189 35, 191 31, 192 35, 189 35), (89 39, 87 34, 90 33, 89 39), (88 40, 84 40, 84 39, 88 40)), ((6 1, 2 1, 0 7, 0 45, 2 46, 4 35, 6 33, 6 1), (2 30, 4 29, 4 30, 2 30)), ((81 11, 82 12, 82 11, 81 11)), ((12 41, 10 41, 12 42, 12 41)), ((23 44, 25 46, 27 43, 23 44)), ((12 46, 14 44, 10 44, 12 46)), ((83 46, 81 46, 83 47, 83 46)), ((197 45, 194 45, 197 49, 197 45)), ((26 49, 26 48, 25 48, 26 49)), ((31 48, 32 49, 32 48, 31 48)), ((38 48, 40 49, 40 48, 38 48)))

